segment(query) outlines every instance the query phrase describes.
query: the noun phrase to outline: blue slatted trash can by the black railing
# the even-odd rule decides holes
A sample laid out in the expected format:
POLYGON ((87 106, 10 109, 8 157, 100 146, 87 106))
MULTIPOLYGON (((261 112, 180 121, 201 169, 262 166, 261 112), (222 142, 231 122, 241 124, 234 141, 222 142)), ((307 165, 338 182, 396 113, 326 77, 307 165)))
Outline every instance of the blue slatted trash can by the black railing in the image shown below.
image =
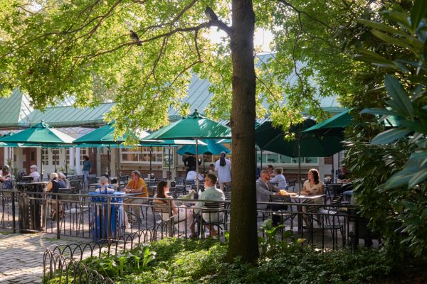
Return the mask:
POLYGON ((123 222, 123 195, 125 192, 102 193, 89 192, 92 197, 90 207, 90 221, 92 225, 92 239, 117 238, 123 222))

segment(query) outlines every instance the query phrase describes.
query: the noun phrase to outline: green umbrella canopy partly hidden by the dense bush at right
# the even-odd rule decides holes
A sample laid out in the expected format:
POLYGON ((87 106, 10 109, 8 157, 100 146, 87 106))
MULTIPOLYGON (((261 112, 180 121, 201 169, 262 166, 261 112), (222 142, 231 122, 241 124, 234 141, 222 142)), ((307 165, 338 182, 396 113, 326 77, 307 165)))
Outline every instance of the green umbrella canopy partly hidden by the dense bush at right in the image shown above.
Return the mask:
POLYGON ((335 114, 329 119, 326 119, 325 121, 305 129, 302 131, 302 133, 321 134, 324 136, 342 135, 344 127, 348 126, 353 119, 353 116, 349 114, 349 111, 351 111, 351 109, 347 109, 347 111, 342 111, 339 114, 335 114))

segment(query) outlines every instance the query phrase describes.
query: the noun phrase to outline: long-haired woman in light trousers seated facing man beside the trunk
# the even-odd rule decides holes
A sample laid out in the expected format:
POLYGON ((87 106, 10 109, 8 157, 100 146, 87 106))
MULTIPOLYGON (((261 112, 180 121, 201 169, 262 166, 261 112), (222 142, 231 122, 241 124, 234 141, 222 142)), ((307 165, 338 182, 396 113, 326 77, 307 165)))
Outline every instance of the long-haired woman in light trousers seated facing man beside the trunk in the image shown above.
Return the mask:
POLYGON ((153 200, 153 206, 156 204, 169 205, 169 202, 171 204, 172 212, 162 212, 163 221, 167 221, 170 217, 174 216, 176 229, 179 231, 191 231, 190 236, 194 236, 193 211, 187 209, 185 205, 176 207, 172 196, 169 195, 169 187, 166 181, 161 181, 157 184, 157 195, 154 195, 154 198, 165 198, 167 200, 153 200))

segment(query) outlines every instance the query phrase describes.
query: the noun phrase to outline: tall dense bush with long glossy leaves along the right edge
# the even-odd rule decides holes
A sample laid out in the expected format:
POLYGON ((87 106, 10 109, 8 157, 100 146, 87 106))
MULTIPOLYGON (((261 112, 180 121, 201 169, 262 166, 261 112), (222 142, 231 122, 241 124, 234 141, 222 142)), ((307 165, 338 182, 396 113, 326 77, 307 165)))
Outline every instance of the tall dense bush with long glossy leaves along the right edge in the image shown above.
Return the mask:
POLYGON ((356 58, 379 67, 380 74, 390 73, 384 80, 385 108, 364 109, 362 114, 379 115, 381 121, 396 119, 399 127, 367 124, 349 132, 352 143, 346 157, 362 214, 384 236, 387 251, 399 258, 423 257, 427 250, 427 11, 418 10, 421 2, 415 1, 412 9, 395 6, 383 11, 383 22, 359 21, 371 29, 377 44, 367 44, 356 58))

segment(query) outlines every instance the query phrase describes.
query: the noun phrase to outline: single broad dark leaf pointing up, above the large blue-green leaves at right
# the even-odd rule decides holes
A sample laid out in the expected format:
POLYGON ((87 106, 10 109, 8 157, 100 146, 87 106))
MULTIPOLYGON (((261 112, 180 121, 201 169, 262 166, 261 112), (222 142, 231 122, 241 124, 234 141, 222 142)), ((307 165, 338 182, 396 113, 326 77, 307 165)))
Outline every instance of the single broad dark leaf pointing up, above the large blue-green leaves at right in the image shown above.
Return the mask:
POLYGON ((394 99, 394 101, 399 107, 399 109, 396 109, 396 111, 401 112, 401 114, 403 114, 404 116, 411 116, 412 119, 412 103, 399 80, 390 75, 386 75, 386 79, 384 80, 384 82, 386 84, 387 92, 389 92, 390 96, 394 99))

